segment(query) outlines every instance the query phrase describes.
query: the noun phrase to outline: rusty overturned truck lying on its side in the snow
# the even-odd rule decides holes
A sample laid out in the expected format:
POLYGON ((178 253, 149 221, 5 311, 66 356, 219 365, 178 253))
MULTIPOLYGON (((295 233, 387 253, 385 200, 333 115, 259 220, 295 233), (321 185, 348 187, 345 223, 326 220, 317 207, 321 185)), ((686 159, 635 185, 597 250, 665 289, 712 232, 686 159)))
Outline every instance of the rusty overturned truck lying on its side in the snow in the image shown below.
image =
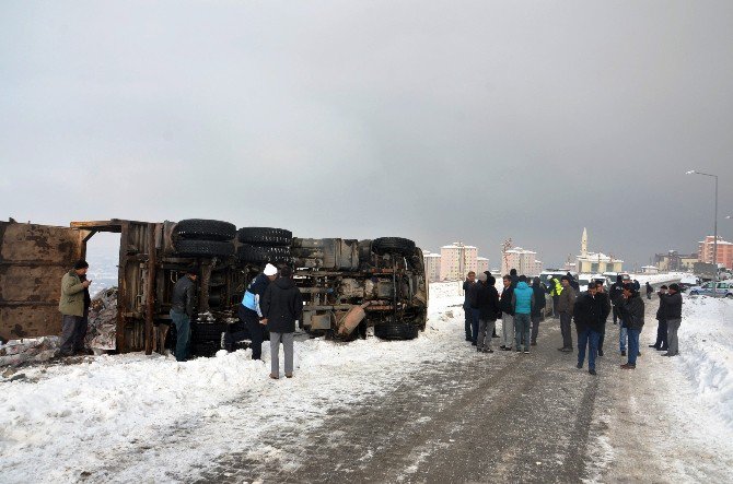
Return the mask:
POLYGON ((236 307, 265 263, 291 265, 303 294, 303 327, 340 340, 412 339, 427 321, 422 251, 399 237, 299 238, 287 229, 226 222, 127 220, 70 227, 0 222, 0 338, 58 334, 59 281, 94 234, 120 234, 118 352, 162 351, 170 340, 171 295, 191 264, 200 268, 191 352, 212 354, 221 333, 242 328, 236 307))

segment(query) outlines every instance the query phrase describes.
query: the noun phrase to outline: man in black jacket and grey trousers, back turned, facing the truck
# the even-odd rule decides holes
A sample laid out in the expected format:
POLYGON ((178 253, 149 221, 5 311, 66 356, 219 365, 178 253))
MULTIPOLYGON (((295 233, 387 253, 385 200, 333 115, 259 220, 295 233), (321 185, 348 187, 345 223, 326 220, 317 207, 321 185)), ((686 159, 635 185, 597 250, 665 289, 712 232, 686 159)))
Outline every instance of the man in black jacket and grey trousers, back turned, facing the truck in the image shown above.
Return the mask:
POLYGON ((292 280, 292 269, 280 269, 280 278, 267 286, 261 302, 263 321, 270 331, 270 378, 280 378, 280 343, 286 355, 286 377, 293 377, 293 333, 303 323, 303 296, 292 280))

